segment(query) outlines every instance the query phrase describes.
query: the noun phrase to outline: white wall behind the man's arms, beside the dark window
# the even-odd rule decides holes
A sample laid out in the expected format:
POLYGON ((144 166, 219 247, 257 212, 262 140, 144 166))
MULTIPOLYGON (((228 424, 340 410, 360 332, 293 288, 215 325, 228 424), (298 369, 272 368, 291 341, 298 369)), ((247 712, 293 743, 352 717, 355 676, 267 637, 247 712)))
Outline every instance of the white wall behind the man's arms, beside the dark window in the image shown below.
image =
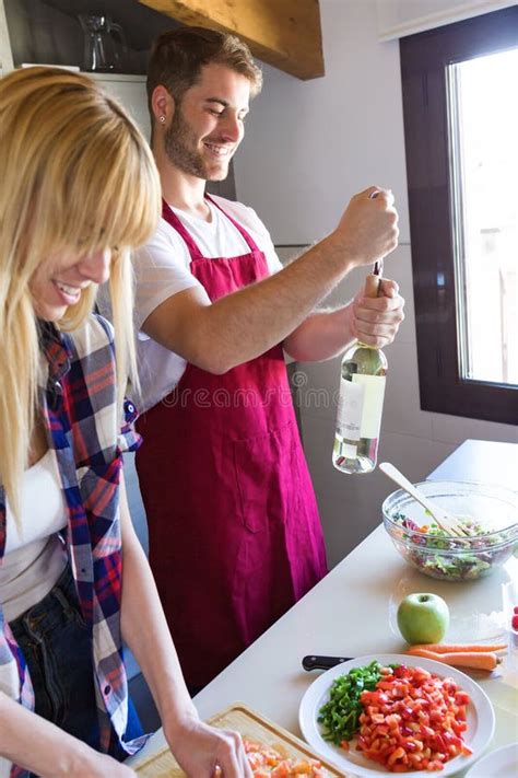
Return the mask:
MULTIPOLYGON (((386 275, 400 283, 407 320, 387 349, 379 454, 419 480, 466 439, 518 442, 518 430, 420 409, 399 45, 378 43, 376 0, 320 0, 320 9, 327 74, 302 82, 264 66, 264 90, 235 161, 237 195, 258 210, 275 243, 304 244, 334 227, 355 191, 392 188, 401 236, 386 275)), ((355 271, 331 302, 349 299, 361 278, 355 271)), ((299 380, 306 455, 335 564, 380 521, 391 487, 379 472, 346 476, 331 465, 335 409, 326 398, 338 387, 339 360, 301 365, 299 380)))

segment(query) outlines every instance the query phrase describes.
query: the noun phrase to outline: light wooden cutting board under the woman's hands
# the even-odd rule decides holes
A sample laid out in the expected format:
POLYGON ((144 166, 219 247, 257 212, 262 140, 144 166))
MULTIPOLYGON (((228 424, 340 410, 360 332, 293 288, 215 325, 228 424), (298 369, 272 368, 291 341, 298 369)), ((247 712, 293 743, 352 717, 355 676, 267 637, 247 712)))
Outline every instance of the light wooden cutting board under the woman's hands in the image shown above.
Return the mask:
MULTIPOLYGON (((315 754, 304 741, 251 710, 244 702, 235 702, 229 708, 222 710, 213 716, 209 723, 214 727, 237 730, 244 738, 261 745, 273 746, 286 757, 320 759, 329 778, 345 778, 343 773, 339 773, 335 767, 315 754)), ((144 759, 134 769, 140 778, 186 778, 186 774, 178 767, 167 747, 144 759)))

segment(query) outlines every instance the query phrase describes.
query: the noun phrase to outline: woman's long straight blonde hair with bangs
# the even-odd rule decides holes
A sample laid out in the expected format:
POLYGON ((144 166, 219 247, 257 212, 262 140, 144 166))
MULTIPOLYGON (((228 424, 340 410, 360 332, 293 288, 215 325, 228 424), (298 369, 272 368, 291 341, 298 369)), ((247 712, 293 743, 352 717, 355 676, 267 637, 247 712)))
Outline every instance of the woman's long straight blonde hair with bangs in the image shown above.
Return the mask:
MULTIPOLYGON (((30 283, 60 252, 111 248, 119 403, 136 380, 130 248, 157 223, 158 174, 146 141, 87 77, 34 67, 0 80, 0 483, 14 513, 34 431, 40 350, 30 283)), ((96 287, 58 323, 76 328, 96 287)))

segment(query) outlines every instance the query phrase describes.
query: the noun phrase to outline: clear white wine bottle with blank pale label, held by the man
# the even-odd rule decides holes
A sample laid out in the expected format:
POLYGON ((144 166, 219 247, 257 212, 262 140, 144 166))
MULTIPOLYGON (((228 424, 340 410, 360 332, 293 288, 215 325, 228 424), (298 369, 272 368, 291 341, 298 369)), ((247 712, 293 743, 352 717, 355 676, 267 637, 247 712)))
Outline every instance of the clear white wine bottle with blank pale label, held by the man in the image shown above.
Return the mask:
MULTIPOLYGON (((369 274, 365 294, 378 295, 379 275, 369 274)), ((387 358, 379 348, 355 342, 342 358, 332 463, 342 473, 376 467, 387 358)))

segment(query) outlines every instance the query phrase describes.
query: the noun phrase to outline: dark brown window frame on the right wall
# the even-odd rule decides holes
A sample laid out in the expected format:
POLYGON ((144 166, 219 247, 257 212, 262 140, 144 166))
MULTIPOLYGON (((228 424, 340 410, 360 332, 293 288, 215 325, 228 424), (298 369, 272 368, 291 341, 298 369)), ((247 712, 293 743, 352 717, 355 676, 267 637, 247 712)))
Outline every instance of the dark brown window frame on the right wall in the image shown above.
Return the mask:
POLYGON ((460 375, 446 67, 515 47, 517 5, 400 40, 421 408, 511 425, 518 386, 460 375))

